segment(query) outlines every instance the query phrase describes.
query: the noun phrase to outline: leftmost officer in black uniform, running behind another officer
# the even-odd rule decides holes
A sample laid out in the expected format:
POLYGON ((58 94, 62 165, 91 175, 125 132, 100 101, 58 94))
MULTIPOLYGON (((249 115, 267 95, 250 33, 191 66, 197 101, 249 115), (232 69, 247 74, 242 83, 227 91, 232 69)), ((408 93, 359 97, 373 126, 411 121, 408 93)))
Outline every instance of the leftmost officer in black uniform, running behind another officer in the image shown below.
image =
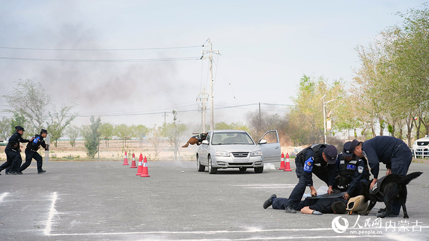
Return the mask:
POLYGON ((27 140, 21 137, 25 131, 21 126, 15 126, 15 129, 16 132, 10 136, 6 148, 4 148, 7 160, 0 166, 0 171, 10 166, 9 174, 12 175, 16 175, 16 169, 19 167, 20 162, 22 162, 19 143, 25 143, 33 140, 33 138, 27 140))

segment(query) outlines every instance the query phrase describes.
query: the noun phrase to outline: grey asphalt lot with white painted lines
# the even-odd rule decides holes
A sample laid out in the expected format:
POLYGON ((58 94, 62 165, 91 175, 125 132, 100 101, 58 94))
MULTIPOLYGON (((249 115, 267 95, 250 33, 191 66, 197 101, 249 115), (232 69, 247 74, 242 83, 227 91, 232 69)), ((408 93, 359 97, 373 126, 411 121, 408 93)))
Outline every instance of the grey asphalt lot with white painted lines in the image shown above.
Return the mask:
MULTIPOLYGON (((37 174, 34 161, 23 175, 1 172, 0 240, 429 240, 428 164, 410 166, 424 172, 408 185, 410 218, 401 211, 377 221, 377 210, 315 216, 263 209, 271 194, 288 197, 297 183, 291 161, 291 172, 213 175, 198 172, 196 162, 157 161, 148 163, 150 177, 114 161, 43 163, 47 172, 37 174), (340 216, 344 233, 332 228, 340 216)), ((314 185, 323 183, 315 177, 314 185)))

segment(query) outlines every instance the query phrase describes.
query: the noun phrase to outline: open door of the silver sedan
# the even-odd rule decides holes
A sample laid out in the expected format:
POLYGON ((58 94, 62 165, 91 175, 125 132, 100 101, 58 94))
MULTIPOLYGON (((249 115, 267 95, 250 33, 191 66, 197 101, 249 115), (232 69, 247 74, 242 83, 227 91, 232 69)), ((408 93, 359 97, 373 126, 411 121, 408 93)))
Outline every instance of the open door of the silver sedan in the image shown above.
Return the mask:
POLYGON ((258 146, 262 150, 264 162, 280 161, 281 148, 277 130, 269 130, 259 139, 258 146))

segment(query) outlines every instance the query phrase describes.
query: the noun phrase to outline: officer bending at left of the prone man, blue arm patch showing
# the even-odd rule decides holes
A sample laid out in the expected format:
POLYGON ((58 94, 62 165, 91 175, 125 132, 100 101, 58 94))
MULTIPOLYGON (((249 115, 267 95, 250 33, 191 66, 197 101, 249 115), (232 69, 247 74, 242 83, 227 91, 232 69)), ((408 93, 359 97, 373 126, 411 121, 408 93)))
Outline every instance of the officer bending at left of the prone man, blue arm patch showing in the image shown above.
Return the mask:
POLYGON ((296 155, 295 173, 299 181, 288 198, 285 208, 286 213, 296 213, 295 209, 301 201, 307 186, 310 187, 311 196, 317 195, 317 191, 313 187, 312 173, 328 185, 329 194, 333 192, 337 153, 337 148, 333 145, 314 144, 296 155))

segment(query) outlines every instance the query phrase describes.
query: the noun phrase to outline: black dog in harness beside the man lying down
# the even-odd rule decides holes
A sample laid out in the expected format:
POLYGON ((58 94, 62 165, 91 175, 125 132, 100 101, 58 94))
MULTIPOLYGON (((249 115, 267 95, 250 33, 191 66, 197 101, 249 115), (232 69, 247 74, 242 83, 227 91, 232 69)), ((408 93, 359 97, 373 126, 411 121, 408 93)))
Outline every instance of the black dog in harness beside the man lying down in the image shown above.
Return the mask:
POLYGON ((398 200, 399 203, 402 206, 402 210, 404 212, 404 219, 408 219, 407 214, 407 208, 405 207, 405 203, 407 202, 407 184, 410 183, 411 180, 419 177, 422 175, 423 172, 413 172, 408 174, 405 177, 402 177, 400 175, 396 174, 390 174, 384 177, 384 180, 382 181, 380 187, 378 187, 377 193, 374 193, 373 191, 376 188, 376 185, 374 185, 373 189, 371 190, 371 182, 368 183, 367 188, 365 188, 363 195, 365 196, 365 202, 370 200, 370 204, 365 212, 363 212, 363 215, 368 215, 372 208, 374 208, 374 205, 377 202, 384 202, 386 205, 386 208, 384 210, 381 210, 381 214, 377 217, 385 218, 391 213, 391 204, 394 200, 398 200))

